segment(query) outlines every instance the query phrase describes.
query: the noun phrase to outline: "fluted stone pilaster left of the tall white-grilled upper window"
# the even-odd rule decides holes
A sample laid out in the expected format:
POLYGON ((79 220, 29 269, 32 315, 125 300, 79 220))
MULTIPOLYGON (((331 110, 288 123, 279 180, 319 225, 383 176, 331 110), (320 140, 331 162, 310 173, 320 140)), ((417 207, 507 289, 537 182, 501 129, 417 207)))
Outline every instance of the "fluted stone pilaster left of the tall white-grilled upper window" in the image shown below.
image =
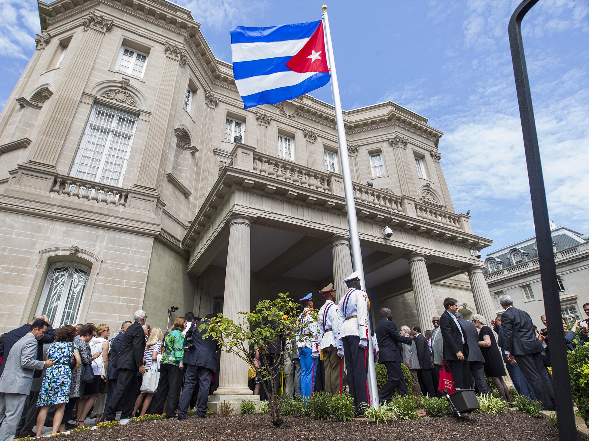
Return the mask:
POLYGON ((41 164, 49 169, 55 169, 88 76, 94 67, 102 38, 112 27, 112 20, 90 12, 82 24, 84 34, 77 36, 81 37, 81 41, 64 72, 67 81, 59 83, 54 96, 47 102, 47 116, 31 145, 29 162, 41 164))

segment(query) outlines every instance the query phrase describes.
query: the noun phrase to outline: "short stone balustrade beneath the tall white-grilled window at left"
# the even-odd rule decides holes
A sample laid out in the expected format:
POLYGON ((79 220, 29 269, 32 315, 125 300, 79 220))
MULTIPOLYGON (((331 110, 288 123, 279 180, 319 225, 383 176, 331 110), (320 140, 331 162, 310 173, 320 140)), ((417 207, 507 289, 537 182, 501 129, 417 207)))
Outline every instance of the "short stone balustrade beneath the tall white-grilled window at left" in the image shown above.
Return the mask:
POLYGON ((89 202, 104 203, 105 205, 123 208, 128 195, 123 188, 63 175, 55 176, 55 182, 50 192, 68 198, 85 199, 89 202))

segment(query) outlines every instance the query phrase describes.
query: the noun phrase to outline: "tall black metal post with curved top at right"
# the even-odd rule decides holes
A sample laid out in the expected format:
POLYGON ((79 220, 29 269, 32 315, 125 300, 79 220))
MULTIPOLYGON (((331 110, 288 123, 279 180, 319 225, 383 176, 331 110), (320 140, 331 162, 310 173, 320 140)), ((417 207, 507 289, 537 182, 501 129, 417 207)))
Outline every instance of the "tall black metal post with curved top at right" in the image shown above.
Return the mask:
POLYGON ((511 59, 514 65, 519 118, 521 119, 521 129, 524 135, 525 161, 528 166, 528 181, 530 181, 544 310, 548 336, 550 337, 550 360, 556 398, 554 404, 558 415, 558 435, 561 440, 571 440, 577 439, 577 430, 575 429, 571 382, 568 375, 567 346, 562 331, 560 295, 558 293, 554 250, 552 249, 544 177, 542 176, 538 135, 534 121, 534 109, 532 108, 530 81, 528 81, 528 69, 525 65, 524 45, 521 39, 521 21, 537 2, 538 0, 524 0, 515 9, 511 19, 509 19, 509 46, 511 46, 511 59))

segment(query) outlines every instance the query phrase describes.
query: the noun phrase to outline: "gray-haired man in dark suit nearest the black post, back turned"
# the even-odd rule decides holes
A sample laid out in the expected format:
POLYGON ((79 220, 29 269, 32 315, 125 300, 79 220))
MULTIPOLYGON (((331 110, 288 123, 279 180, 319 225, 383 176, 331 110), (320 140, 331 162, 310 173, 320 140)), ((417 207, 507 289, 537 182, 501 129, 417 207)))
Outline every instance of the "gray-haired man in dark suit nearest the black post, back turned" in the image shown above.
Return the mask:
POLYGON ((530 314, 513 306, 508 295, 499 296, 499 303, 505 312, 501 316, 501 328, 507 359, 515 361, 525 379, 534 389, 537 400, 542 402, 543 410, 554 406, 554 387, 542 362, 542 343, 535 335, 534 323, 530 314))

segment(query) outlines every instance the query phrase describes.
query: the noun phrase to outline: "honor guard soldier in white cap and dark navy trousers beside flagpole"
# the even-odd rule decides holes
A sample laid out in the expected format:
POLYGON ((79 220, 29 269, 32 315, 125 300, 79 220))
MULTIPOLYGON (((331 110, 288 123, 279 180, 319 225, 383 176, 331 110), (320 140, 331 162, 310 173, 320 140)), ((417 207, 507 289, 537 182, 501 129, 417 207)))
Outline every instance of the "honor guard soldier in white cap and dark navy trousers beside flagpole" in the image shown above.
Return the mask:
POLYGON ((368 403, 368 295, 360 289, 358 271, 343 282, 349 289, 339 302, 339 316, 343 322, 339 338, 343 344, 350 395, 354 397, 358 415, 368 403))

